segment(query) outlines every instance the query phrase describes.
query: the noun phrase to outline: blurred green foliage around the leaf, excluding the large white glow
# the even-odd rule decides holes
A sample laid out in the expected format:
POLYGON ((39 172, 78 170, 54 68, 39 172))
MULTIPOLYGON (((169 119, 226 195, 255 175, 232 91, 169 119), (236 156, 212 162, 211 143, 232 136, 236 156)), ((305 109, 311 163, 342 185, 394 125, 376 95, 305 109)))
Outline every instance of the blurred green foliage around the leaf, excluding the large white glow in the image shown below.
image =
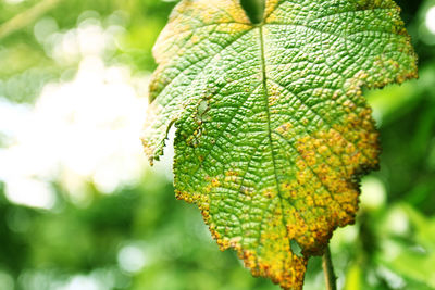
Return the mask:
MULTIPOLYGON (((381 171, 362 182, 357 224, 333 237, 346 290, 435 289, 435 35, 425 26, 435 1, 397 2, 420 56, 420 79, 366 92, 383 155, 381 171)), ((120 31, 102 54, 105 63, 151 72, 152 45, 174 4, 0 0, 0 96, 32 104, 46 84, 71 79, 80 58, 57 56, 52 41, 86 22, 120 31), (52 4, 28 14, 41 2, 52 4)), ((171 180, 151 169, 139 185, 111 194, 89 182, 85 204, 53 187, 55 206, 36 210, 11 203, 0 184, 1 290, 277 289, 251 278, 232 251, 221 253, 199 211, 177 202, 171 180)), ((320 264, 310 261, 306 289, 324 288, 320 264)))

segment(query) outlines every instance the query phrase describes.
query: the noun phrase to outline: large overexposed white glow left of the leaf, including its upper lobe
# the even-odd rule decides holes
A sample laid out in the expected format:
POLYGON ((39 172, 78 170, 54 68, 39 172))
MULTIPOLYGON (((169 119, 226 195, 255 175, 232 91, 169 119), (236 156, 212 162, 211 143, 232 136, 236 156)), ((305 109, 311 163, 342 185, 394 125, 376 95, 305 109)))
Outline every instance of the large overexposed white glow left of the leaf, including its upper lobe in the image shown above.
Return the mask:
MULTIPOLYGON (((55 61, 78 62, 72 81, 47 85, 34 108, 0 96, 0 180, 11 201, 48 209, 55 200, 50 182, 57 180, 86 205, 87 182, 110 193, 139 181, 148 166, 139 140, 148 76, 104 65, 103 55, 125 29, 114 23, 103 28, 86 15, 67 31, 50 18, 34 27, 55 61)), ((169 172, 171 162, 164 160, 158 167, 169 172)))

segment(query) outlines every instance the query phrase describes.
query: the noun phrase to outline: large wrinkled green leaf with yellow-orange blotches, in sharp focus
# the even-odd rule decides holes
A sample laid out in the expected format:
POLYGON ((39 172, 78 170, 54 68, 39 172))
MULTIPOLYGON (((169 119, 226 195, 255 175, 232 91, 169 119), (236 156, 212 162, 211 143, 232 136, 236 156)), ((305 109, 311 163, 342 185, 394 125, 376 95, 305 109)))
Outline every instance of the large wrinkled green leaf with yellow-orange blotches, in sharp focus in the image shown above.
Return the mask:
POLYGON ((183 0, 153 54, 150 162, 175 124, 177 198, 254 276, 301 289, 308 259, 353 223, 360 176, 378 166, 361 88, 417 77, 399 8, 268 0, 252 24, 238 0, 183 0))

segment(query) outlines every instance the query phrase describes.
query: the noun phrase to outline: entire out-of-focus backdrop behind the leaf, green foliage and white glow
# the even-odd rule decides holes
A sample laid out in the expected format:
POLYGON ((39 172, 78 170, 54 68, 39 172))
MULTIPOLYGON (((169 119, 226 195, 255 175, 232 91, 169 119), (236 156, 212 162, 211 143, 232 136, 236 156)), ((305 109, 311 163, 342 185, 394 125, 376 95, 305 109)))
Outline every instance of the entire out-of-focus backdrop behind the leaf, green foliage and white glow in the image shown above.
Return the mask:
MULTIPOLYGON (((381 171, 332 253, 339 289, 435 289, 435 1, 397 1, 420 79, 366 92, 381 171)), ((0 0, 0 290, 278 289, 176 201, 139 134, 176 1, 0 0)), ((306 289, 324 289, 312 259, 306 289)))

